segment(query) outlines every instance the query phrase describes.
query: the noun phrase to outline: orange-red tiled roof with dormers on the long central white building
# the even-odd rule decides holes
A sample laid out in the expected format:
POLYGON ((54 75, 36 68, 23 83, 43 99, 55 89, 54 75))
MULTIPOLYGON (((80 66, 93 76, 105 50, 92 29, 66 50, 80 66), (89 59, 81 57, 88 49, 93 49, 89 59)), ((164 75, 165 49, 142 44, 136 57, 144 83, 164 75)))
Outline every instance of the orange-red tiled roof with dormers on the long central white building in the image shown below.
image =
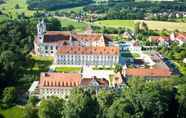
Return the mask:
POLYGON ((105 54, 118 55, 119 48, 117 47, 80 47, 80 46, 64 46, 58 49, 60 54, 105 54))

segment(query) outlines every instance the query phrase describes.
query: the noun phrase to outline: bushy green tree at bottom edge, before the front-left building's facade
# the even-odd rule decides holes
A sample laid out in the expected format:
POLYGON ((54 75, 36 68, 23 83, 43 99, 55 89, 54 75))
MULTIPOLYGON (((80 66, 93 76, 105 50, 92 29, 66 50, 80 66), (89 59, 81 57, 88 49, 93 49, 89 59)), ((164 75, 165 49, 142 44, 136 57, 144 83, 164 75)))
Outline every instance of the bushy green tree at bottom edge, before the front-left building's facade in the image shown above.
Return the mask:
POLYGON ((62 118, 64 117, 64 101, 51 97, 42 100, 39 106, 39 118, 62 118))

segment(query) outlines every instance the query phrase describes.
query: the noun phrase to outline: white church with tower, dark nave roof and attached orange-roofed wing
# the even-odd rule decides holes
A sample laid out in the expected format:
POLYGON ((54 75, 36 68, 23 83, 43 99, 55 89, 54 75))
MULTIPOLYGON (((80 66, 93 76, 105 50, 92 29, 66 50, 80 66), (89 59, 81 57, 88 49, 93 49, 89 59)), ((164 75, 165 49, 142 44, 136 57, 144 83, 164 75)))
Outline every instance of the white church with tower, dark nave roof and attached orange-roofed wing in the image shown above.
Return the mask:
POLYGON ((112 45, 111 37, 103 34, 46 31, 46 24, 42 20, 37 25, 34 52, 36 55, 54 56, 57 49, 63 46, 107 47, 110 45, 112 45))

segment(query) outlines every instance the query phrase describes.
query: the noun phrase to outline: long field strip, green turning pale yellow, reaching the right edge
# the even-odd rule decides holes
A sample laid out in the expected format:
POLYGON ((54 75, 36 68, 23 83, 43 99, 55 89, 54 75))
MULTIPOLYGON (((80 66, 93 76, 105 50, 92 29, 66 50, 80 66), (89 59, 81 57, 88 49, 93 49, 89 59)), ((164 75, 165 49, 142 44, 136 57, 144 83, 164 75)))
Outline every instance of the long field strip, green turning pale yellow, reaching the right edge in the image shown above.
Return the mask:
MULTIPOLYGON (((128 27, 130 29, 134 28, 136 22, 142 22, 142 20, 100 20, 95 22, 97 25, 107 26, 107 27, 128 27)), ((168 31, 179 30, 186 32, 186 23, 182 22, 165 22, 165 21, 144 21, 149 29, 152 30, 163 30, 168 31)))

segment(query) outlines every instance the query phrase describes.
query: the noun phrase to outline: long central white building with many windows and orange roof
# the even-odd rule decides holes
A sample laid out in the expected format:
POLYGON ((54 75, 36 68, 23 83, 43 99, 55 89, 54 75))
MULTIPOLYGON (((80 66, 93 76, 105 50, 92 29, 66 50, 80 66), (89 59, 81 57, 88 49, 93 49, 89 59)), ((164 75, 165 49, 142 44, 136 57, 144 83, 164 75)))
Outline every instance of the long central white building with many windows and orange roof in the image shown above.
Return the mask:
POLYGON ((63 65, 109 65, 119 62, 117 47, 65 46, 58 49, 55 64, 63 65))

